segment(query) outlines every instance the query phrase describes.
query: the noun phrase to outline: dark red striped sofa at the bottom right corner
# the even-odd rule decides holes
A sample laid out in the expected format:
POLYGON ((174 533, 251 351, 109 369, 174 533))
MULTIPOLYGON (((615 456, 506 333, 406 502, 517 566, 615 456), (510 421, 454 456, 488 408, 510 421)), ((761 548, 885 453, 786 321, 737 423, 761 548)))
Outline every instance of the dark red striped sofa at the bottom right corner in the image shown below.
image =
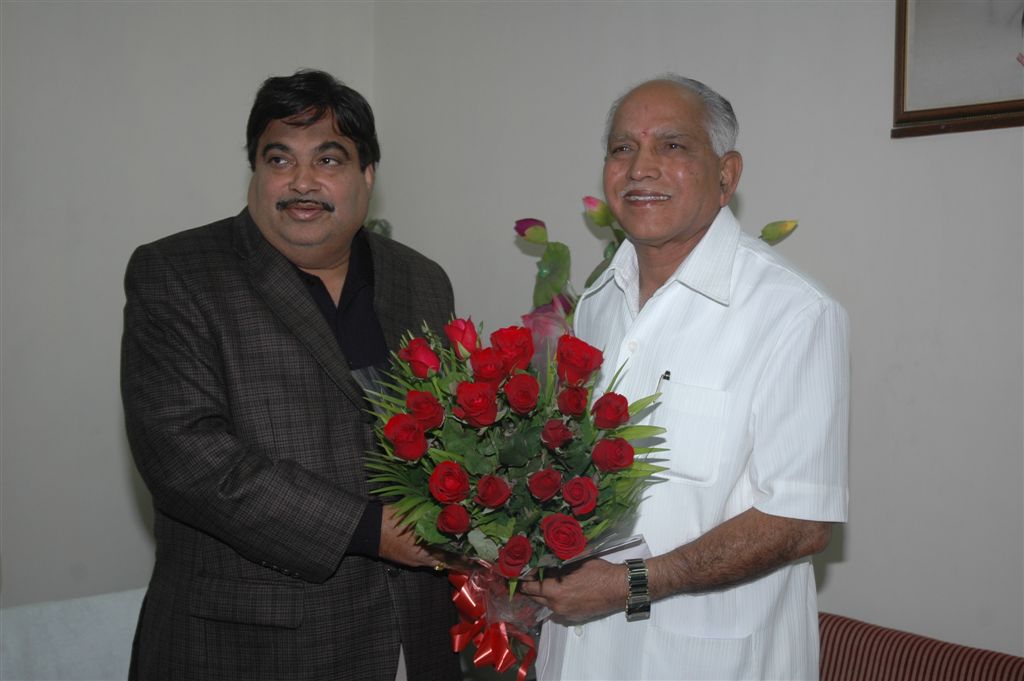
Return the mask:
POLYGON ((1024 657, 818 613, 821 681, 1024 681, 1024 657))

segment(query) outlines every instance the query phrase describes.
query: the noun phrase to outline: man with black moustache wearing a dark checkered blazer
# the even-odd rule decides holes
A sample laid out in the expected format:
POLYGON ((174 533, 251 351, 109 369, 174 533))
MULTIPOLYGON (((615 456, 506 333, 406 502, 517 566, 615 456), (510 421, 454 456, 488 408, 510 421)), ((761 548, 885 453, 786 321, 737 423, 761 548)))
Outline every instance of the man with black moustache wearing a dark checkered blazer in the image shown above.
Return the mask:
POLYGON ((356 377, 453 311, 434 262, 362 228, 380 150, 323 72, 263 83, 239 215, 142 246, 122 394, 153 495, 142 681, 458 679, 443 556, 370 494, 356 377))

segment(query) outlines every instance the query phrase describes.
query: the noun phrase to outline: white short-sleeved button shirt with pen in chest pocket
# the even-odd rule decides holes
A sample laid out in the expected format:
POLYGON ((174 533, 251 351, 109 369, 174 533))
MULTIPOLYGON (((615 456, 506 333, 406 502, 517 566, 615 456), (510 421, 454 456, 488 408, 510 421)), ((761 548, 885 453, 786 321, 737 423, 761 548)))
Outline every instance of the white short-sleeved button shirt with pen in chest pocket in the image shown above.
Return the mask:
MULTIPOLYGON (((584 292, 575 332, 604 352, 599 385, 625 366, 630 401, 660 392, 644 422, 668 429, 668 466, 634 530, 654 555, 754 507, 844 521, 848 320, 816 284, 744 235, 723 208, 675 274, 639 309, 636 251, 624 244, 584 292)), ((813 679, 809 558, 737 587, 677 595, 650 620, 614 613, 545 624, 539 679, 813 679), (552 649, 564 653, 546 655, 552 649), (551 659, 554 656, 556 658, 551 659)))

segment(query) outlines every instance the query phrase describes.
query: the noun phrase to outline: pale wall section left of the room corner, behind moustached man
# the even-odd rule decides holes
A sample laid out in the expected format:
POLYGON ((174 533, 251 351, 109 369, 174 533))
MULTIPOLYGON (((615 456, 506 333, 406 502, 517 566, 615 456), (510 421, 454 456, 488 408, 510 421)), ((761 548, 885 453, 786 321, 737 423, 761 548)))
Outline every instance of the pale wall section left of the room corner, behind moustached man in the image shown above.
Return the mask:
POLYGON ((118 386, 138 245, 237 213, 260 82, 373 95, 370 3, 2 5, 4 605, 142 586, 150 498, 118 386))

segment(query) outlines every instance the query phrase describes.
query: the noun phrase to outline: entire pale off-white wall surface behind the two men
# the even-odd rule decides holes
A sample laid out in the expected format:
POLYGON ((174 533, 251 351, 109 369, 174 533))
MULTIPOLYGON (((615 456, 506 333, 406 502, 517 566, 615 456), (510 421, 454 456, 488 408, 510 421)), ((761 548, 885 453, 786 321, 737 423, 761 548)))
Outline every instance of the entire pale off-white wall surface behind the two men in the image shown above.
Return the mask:
POLYGON ((1024 654, 1024 131, 890 139, 889 0, 2 12, 5 604, 145 581, 120 278, 135 245, 241 206, 263 77, 318 66, 368 95, 377 214, 494 329, 529 306, 515 219, 569 243, 582 284, 607 104, 671 69, 736 108, 748 230, 799 218, 778 248, 852 318, 851 521, 822 608, 1024 654))

